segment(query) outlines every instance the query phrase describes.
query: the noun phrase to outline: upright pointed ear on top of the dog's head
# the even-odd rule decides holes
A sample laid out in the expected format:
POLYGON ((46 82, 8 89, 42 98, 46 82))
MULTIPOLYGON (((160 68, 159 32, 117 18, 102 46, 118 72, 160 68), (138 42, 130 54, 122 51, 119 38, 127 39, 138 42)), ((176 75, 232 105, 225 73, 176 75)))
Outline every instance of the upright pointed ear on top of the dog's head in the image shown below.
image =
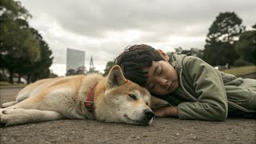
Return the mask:
POLYGON ((120 86, 126 81, 126 78, 122 74, 121 67, 118 65, 114 65, 107 76, 106 89, 120 86))

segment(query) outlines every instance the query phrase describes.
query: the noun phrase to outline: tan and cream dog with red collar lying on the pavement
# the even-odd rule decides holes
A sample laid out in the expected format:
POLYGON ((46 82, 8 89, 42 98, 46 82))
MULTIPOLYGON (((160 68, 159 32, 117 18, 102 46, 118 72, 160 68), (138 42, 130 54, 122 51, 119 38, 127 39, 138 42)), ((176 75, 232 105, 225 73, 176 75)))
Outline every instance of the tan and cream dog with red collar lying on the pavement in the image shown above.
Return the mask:
POLYGON ((114 66, 105 78, 87 74, 48 78, 22 89, 14 102, 2 104, 2 126, 63 118, 150 125, 150 93, 124 78, 114 66))

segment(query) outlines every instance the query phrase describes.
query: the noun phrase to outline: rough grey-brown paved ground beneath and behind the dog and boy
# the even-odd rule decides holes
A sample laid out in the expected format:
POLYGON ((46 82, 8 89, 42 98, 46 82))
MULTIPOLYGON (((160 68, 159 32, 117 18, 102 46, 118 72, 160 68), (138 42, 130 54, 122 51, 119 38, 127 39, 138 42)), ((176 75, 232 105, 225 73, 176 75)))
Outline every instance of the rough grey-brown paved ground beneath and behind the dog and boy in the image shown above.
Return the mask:
MULTIPOLYGON (((0 89, 0 103, 18 88, 0 89)), ((58 120, 0 128, 0 143, 256 143, 256 121, 202 122, 155 118, 151 126, 58 120)))

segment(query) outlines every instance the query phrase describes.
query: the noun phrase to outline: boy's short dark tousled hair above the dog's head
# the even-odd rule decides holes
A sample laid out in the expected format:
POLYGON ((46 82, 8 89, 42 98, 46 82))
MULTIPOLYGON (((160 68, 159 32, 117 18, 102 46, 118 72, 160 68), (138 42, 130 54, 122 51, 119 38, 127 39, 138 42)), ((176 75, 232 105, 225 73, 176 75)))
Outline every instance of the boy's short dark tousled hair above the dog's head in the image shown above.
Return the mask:
POLYGON ((153 47, 148 45, 127 46, 115 58, 114 63, 122 68, 122 73, 130 81, 140 86, 146 86, 147 73, 142 68, 152 66, 153 61, 162 61, 164 58, 153 47))

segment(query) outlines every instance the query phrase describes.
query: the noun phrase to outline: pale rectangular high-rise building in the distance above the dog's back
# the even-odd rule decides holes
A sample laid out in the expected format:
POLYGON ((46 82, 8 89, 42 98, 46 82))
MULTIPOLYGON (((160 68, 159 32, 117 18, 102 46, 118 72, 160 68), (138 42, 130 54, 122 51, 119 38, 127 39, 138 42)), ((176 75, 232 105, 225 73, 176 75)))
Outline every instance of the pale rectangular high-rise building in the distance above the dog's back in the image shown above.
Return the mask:
POLYGON ((66 75, 86 74, 86 52, 82 50, 66 50, 66 75))

